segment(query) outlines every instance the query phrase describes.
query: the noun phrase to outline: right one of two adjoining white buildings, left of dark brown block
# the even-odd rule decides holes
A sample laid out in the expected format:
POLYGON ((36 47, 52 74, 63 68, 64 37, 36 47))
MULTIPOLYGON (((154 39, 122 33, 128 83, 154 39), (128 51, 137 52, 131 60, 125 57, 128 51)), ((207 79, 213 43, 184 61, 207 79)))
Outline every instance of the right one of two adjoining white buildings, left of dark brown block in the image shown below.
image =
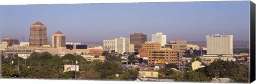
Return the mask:
POLYGON ((117 53, 124 53, 130 51, 130 38, 115 38, 115 51, 117 53))

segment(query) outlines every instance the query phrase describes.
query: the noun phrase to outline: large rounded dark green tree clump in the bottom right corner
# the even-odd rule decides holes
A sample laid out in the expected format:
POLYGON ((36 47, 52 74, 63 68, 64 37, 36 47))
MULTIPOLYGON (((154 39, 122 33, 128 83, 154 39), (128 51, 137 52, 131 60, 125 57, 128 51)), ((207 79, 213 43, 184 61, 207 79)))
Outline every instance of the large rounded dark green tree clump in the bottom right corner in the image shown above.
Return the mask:
POLYGON ((230 78, 233 82, 247 82, 249 80, 249 68, 236 62, 217 60, 206 67, 210 77, 230 78))

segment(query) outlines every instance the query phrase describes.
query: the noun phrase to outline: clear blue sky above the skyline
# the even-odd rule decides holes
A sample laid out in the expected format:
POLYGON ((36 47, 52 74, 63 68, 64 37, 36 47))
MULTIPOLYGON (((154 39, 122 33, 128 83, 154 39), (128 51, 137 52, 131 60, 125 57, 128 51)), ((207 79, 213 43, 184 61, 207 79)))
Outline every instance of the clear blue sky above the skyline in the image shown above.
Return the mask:
POLYGON ((249 40, 250 1, 167 2, 1 6, 1 37, 29 40, 31 24, 47 27, 48 41, 57 31, 69 42, 101 42, 134 32, 163 32, 167 40, 206 40, 226 33, 249 40))

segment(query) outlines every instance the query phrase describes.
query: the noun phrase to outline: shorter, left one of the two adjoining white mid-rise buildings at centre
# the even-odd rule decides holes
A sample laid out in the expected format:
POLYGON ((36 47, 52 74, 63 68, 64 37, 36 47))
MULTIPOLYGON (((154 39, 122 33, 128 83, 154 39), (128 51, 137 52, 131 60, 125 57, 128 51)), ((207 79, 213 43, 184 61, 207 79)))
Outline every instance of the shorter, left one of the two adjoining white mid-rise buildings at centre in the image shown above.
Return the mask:
POLYGON ((111 40, 103 40, 103 47, 106 51, 111 52, 112 50, 115 50, 116 41, 115 39, 111 40))

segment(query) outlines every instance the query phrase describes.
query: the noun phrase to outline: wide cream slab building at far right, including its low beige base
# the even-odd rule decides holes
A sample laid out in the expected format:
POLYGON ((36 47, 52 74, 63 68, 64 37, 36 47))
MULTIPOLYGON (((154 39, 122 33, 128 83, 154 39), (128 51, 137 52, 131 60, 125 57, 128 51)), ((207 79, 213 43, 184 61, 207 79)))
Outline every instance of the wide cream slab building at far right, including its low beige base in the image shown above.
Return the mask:
POLYGON ((201 57, 202 61, 210 64, 215 60, 235 61, 233 58, 233 35, 207 35, 207 54, 201 57))

